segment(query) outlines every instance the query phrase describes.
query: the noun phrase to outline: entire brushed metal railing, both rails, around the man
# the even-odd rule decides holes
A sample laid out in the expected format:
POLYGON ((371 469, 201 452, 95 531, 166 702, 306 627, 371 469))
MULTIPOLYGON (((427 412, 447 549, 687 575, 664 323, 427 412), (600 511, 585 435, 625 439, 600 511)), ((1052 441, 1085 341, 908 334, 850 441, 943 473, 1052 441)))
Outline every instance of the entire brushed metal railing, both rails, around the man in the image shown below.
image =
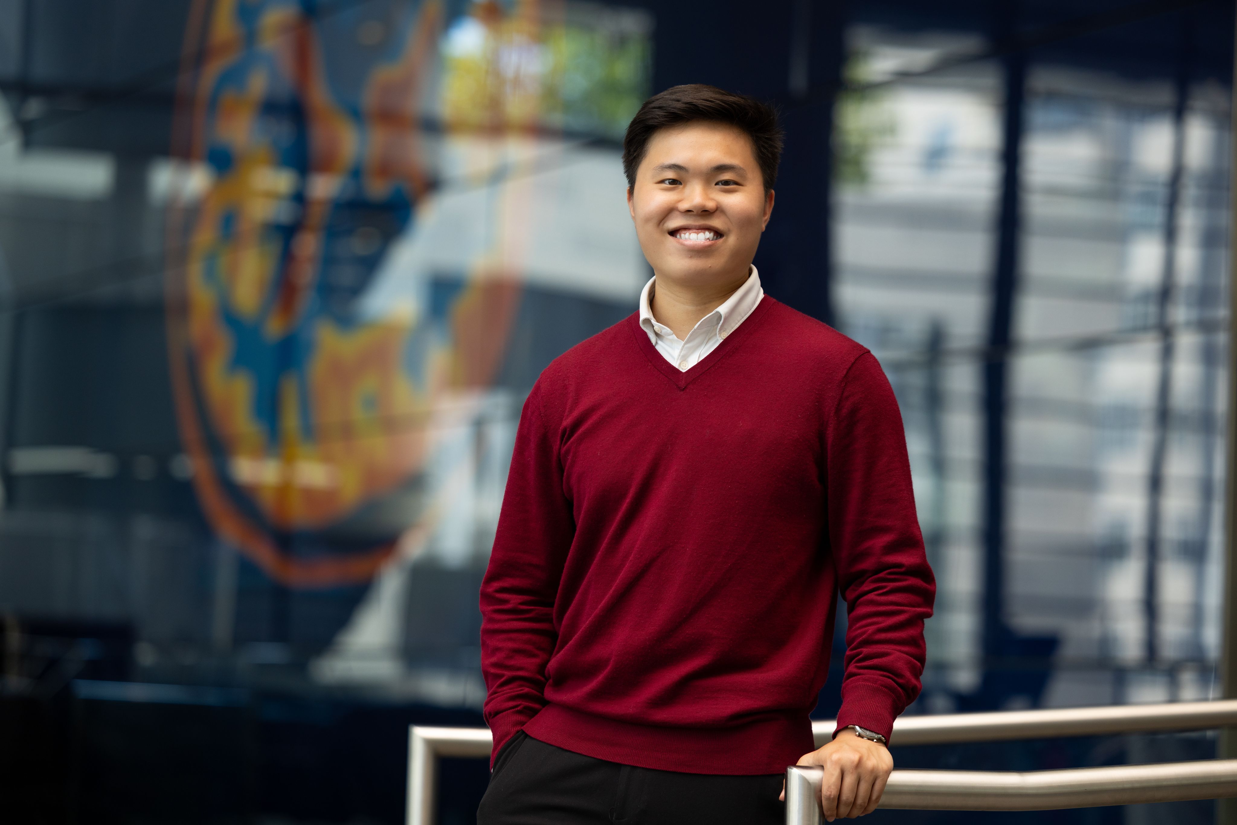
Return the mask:
MULTIPOLYGON (((1228 726, 1237 726, 1237 700, 907 716, 894 722, 893 741, 948 745, 1228 726)), ((819 747, 829 741, 834 722, 813 722, 811 732, 819 747)), ((408 737, 408 825, 433 823, 439 757, 487 758, 492 747, 484 727, 413 726, 408 737)), ((819 768, 788 768, 787 823, 819 823, 819 768)), ((881 808, 1051 810, 1222 797, 1237 797, 1237 759, 1025 773, 894 771, 881 808)))

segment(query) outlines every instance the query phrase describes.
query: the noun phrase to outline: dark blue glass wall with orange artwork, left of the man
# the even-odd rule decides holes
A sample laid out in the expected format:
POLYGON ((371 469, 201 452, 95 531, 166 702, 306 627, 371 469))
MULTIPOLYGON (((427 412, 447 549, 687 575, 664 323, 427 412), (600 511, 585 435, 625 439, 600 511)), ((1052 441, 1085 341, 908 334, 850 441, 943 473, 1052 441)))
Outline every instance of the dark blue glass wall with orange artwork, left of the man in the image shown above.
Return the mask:
POLYGON ((33 720, 0 763, 57 743, 9 790, 56 821, 396 821, 408 722, 482 724, 523 397, 648 277, 620 140, 652 16, 0 16, 0 663, 33 720))

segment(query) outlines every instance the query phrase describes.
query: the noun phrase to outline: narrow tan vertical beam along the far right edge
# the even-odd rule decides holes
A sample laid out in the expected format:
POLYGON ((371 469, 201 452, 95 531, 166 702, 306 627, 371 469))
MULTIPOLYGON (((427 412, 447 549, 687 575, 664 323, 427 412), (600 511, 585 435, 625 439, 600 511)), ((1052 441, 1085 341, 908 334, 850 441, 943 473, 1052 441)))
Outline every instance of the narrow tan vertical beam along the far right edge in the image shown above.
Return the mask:
MULTIPOLYGON (((1220 685, 1223 698, 1237 698, 1237 20, 1233 28, 1233 83, 1230 88, 1228 125, 1228 433, 1225 494, 1225 604, 1221 625, 1220 685)), ((1220 731, 1220 758, 1237 757, 1237 730, 1220 731)), ((1237 803, 1216 803, 1217 825, 1237 825, 1237 803)))

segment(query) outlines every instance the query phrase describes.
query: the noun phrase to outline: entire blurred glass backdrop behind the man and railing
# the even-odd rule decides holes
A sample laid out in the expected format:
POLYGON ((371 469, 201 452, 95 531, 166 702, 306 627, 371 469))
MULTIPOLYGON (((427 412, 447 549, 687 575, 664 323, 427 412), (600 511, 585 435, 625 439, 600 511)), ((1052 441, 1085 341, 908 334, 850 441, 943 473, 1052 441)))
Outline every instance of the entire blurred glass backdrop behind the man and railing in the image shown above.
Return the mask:
POLYGON ((402 821, 408 724, 484 724, 524 395, 651 275, 620 143, 677 83, 781 106, 764 289, 897 391, 908 712, 1218 696, 1232 46, 1218 0, 0 0, 0 820, 402 821))

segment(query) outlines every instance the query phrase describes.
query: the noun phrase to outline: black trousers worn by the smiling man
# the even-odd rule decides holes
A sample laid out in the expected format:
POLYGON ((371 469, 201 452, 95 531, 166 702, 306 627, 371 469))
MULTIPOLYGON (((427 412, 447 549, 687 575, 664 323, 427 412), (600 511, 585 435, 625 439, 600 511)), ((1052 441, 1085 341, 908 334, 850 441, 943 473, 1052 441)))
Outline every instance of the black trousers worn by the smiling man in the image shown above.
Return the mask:
POLYGON ((477 825, 781 825, 782 774, 715 776, 617 764, 539 742, 502 746, 477 825))

